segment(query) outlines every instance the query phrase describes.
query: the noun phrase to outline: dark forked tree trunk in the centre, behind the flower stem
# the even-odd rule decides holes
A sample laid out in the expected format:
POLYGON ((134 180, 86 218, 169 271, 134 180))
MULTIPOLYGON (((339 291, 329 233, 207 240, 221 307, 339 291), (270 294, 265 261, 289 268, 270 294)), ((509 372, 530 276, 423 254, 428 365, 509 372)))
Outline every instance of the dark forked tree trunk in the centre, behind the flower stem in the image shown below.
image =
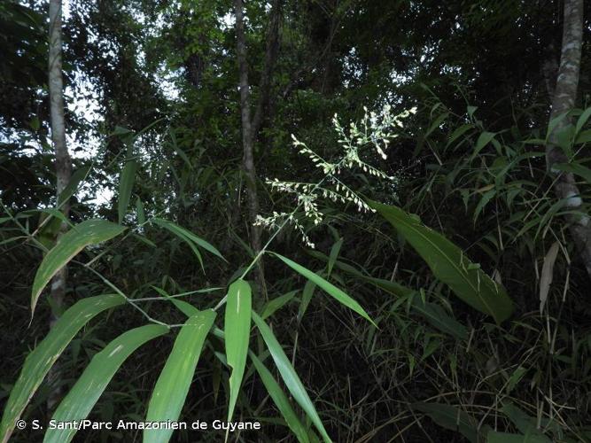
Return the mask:
MULTIPOLYGON (((261 227, 254 226, 253 222, 259 214, 259 196, 257 192, 257 175, 254 166, 253 147, 256 137, 261 129, 262 116, 265 106, 268 104, 269 91, 271 88, 271 73, 276 62, 276 53, 279 41, 279 21, 281 0, 273 2, 269 21, 267 51, 265 54, 265 67, 261 73, 260 97, 257 103, 254 117, 251 118, 251 94, 248 82, 248 63, 246 61, 246 37, 242 0, 235 0, 236 13, 236 38, 237 38, 237 61, 240 83, 240 112, 242 120, 242 145, 243 145, 243 169, 245 171, 246 194, 248 198, 248 214, 250 221, 251 245, 254 253, 261 251, 261 227)), ((265 278, 262 260, 258 262, 258 284, 265 293, 265 278)), ((265 294, 266 295, 266 294, 265 294)))

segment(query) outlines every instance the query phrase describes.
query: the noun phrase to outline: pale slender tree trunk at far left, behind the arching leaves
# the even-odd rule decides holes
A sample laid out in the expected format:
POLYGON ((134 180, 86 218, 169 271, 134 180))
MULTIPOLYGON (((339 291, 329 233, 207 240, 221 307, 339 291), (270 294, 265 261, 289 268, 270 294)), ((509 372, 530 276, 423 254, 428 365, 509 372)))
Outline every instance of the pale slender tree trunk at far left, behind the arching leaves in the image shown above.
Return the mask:
MULTIPOLYGON (((72 160, 66 146, 66 123, 64 120, 64 82, 62 80, 62 37, 61 37, 61 0, 50 0, 50 52, 49 52, 49 87, 50 87, 50 114, 51 114, 51 141, 55 149, 55 167, 57 177, 57 198, 66 188, 72 175, 72 160)), ((61 202, 61 210, 66 215, 69 213, 68 202, 61 202)), ((66 225, 62 224, 62 230, 66 225)), ((61 268, 51 281, 51 300, 53 309, 51 326, 56 322, 57 312, 62 305, 66 293, 66 268, 61 268)), ((51 373, 51 382, 55 383, 59 378, 58 371, 51 373)), ((55 390, 48 398, 48 408, 53 408, 58 400, 59 392, 55 390)))

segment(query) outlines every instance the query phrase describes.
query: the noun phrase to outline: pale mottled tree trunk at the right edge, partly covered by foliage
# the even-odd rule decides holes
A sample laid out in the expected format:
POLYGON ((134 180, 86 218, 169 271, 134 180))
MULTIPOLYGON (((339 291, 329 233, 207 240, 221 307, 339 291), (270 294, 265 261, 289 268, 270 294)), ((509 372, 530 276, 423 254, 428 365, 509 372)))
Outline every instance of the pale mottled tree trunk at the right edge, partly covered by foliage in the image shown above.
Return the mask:
MULTIPOLYGON (((564 113, 568 113, 574 107, 579 85, 580 54, 583 43, 583 0, 564 0, 564 29, 563 43, 560 56, 560 66, 556 77, 556 87, 553 91, 552 111, 550 121, 564 113)), ((566 128, 571 121, 564 118, 552 130, 546 147, 546 160, 548 170, 559 174, 556 180, 555 191, 558 198, 565 198, 566 205, 572 210, 578 210, 582 206, 579 189, 571 173, 561 173, 553 166, 556 163, 564 163, 568 158, 558 146, 558 134, 566 128)), ((579 253, 587 268, 587 274, 591 276, 591 223, 587 215, 567 215, 569 229, 575 243, 579 247, 579 253)))

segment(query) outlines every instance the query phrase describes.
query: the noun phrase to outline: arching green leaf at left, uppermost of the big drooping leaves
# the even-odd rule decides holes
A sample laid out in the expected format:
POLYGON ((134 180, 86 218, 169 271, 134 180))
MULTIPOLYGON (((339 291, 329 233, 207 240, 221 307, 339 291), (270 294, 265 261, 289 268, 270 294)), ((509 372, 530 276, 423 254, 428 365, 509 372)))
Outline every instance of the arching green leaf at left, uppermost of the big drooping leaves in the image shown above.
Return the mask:
POLYGON ((80 253, 84 247, 104 242, 118 236, 126 228, 105 220, 87 220, 74 226, 66 232, 47 255, 35 274, 33 291, 31 292, 31 313, 35 312, 35 305, 43 288, 50 282, 51 277, 66 263, 80 253))

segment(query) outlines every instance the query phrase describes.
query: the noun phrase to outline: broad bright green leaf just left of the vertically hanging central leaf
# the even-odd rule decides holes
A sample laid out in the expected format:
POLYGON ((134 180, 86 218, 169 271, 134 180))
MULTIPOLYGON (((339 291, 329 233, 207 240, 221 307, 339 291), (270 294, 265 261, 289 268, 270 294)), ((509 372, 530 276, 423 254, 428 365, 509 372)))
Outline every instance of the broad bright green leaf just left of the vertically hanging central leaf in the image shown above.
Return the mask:
MULTIPOLYGON (((192 315, 184 323, 154 386, 148 405, 147 422, 178 420, 191 387, 201 349, 214 319, 215 312, 208 309, 192 315)), ((172 433, 172 429, 146 429, 144 443, 167 442, 172 433)))

